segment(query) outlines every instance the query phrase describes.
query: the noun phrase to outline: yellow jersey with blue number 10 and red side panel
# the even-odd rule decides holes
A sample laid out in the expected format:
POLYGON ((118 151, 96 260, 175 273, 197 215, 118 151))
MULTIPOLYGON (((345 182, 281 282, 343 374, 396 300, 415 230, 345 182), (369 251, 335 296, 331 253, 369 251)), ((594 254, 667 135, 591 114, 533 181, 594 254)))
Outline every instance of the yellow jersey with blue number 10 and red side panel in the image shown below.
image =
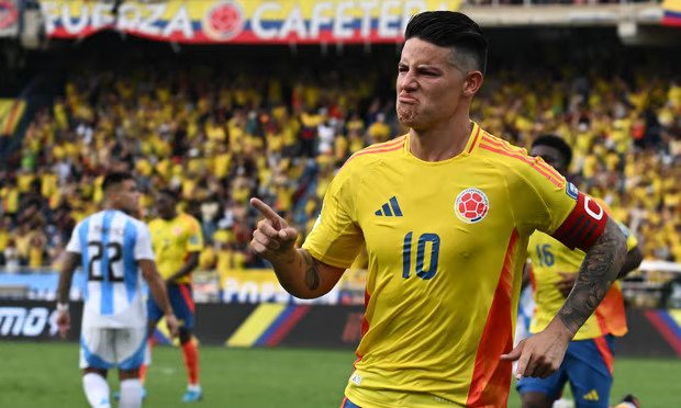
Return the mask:
POLYGON ((500 355, 513 345, 527 240, 535 229, 565 235, 582 214, 578 194, 475 123, 448 160, 420 160, 410 137, 351 156, 303 243, 349 268, 366 242, 362 338, 345 395, 361 407, 505 406, 511 362, 500 355))

